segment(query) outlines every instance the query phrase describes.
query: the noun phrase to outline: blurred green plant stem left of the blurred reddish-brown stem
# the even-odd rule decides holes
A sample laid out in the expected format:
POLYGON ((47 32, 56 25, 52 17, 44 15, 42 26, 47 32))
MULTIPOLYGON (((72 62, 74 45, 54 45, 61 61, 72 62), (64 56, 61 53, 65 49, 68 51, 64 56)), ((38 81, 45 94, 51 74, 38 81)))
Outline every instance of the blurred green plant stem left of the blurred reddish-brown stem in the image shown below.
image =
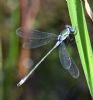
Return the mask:
POLYGON ((12 87, 15 78, 14 76, 16 74, 15 69, 18 58, 18 38, 16 36, 16 27, 19 18, 18 15, 18 9, 16 9, 11 15, 13 25, 9 33, 9 51, 7 53, 7 59, 4 65, 4 100, 11 100, 11 93, 13 93, 12 87))

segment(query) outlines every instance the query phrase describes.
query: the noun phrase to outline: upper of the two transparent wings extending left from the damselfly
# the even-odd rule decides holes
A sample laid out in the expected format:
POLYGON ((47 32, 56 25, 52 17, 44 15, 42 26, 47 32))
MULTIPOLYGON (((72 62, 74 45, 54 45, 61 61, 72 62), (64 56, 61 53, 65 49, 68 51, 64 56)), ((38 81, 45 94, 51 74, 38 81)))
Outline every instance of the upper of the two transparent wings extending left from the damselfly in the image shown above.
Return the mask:
POLYGON ((16 30, 16 34, 25 39, 46 39, 46 38, 55 38, 57 37, 56 34, 48 33, 48 32, 40 32, 38 30, 32 30, 29 33, 24 33, 21 28, 16 30))

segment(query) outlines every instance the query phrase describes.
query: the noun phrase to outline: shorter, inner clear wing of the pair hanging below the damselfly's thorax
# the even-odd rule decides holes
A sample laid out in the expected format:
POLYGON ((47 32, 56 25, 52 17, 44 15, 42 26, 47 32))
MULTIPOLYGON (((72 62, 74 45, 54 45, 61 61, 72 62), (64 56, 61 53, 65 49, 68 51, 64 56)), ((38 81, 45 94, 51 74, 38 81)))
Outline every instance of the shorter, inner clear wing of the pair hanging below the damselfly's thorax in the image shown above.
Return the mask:
POLYGON ((59 58, 60 62, 65 69, 70 69, 71 67, 71 59, 69 53, 66 49, 64 42, 62 42, 59 46, 59 58))

